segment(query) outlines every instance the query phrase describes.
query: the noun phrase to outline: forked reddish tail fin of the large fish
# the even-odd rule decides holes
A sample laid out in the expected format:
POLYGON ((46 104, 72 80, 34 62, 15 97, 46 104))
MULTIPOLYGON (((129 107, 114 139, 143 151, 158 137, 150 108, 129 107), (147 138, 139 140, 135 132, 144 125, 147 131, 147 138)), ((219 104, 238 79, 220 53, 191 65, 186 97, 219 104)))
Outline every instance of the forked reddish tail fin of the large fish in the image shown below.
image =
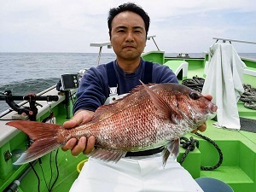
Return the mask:
POLYGON ((56 133, 61 128, 61 125, 41 123, 37 121, 15 120, 10 121, 6 125, 14 126, 15 128, 24 131, 34 143, 26 150, 15 162, 15 165, 37 160, 38 158, 48 154, 56 148, 61 147, 62 143, 57 143, 56 133))

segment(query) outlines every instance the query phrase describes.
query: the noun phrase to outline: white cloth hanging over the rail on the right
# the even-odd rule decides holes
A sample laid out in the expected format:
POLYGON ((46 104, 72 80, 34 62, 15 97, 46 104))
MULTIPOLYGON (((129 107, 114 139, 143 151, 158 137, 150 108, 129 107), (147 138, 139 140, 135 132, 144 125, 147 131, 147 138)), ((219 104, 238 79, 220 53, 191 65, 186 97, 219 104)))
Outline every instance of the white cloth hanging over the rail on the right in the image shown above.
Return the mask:
POLYGON ((239 130, 240 119, 237 102, 244 92, 243 68, 246 67, 232 44, 213 44, 211 59, 202 94, 211 94, 218 106, 218 126, 239 130))

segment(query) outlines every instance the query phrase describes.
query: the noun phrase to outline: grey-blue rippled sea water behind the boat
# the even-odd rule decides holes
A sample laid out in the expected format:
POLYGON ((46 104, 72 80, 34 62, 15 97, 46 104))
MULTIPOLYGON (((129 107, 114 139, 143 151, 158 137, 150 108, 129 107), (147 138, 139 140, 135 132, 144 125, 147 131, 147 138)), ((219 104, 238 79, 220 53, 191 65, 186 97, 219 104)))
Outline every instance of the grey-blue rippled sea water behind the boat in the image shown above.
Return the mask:
MULTIPOLYGON (((256 59, 254 53, 240 55, 256 59)), ((96 67, 97 56, 97 53, 0 53, 0 92, 11 90, 14 96, 41 92, 55 85, 61 74, 96 67)), ((177 53, 166 56, 177 56, 177 53)), ((189 56, 202 57, 203 54, 189 56)), ((113 53, 102 53, 100 63, 114 59, 113 53)), ((8 108, 6 102, 0 101, 0 113, 8 108)))

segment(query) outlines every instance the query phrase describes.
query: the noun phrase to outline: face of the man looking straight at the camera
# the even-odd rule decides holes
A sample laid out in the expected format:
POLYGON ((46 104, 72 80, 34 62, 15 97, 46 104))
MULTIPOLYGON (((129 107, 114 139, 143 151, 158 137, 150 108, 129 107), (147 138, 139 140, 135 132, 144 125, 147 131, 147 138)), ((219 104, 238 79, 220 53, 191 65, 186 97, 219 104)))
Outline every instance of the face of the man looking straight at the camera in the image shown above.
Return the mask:
POLYGON ((143 18, 130 11, 113 18, 110 41, 118 59, 134 60, 141 56, 146 46, 143 18))

